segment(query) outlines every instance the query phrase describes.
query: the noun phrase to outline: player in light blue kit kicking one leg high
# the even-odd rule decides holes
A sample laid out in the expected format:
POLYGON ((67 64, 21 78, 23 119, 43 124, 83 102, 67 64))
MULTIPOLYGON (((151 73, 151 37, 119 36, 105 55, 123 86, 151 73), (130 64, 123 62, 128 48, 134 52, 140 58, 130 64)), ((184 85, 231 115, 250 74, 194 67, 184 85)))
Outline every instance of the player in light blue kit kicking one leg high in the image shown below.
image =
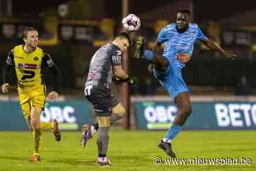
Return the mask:
POLYGON ((178 11, 176 23, 170 23, 160 31, 153 52, 145 50, 144 53, 143 37, 139 37, 135 42, 135 58, 146 58, 151 63, 148 69, 170 94, 178 107, 173 125, 159 142, 159 148, 162 148, 171 157, 176 157, 171 148, 171 140, 181 131, 181 126, 192 113, 189 90, 182 78, 181 69, 191 58, 195 42, 200 40, 211 50, 218 51, 227 58, 236 57, 234 53, 223 50, 216 42, 208 39, 197 24, 189 23, 189 17, 189 10, 178 11), (161 56, 159 49, 162 43, 164 44, 164 53, 161 56))

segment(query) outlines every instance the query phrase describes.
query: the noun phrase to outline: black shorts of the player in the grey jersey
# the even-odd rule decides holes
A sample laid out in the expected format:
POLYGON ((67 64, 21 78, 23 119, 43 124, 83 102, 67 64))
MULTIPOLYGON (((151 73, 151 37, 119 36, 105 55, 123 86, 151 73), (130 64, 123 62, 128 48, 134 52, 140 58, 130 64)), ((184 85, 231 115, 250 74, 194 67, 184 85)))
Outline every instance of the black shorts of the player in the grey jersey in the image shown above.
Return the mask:
POLYGON ((86 99, 94 105, 95 114, 99 116, 110 116, 112 109, 118 104, 116 96, 111 94, 111 89, 105 86, 86 86, 86 99))

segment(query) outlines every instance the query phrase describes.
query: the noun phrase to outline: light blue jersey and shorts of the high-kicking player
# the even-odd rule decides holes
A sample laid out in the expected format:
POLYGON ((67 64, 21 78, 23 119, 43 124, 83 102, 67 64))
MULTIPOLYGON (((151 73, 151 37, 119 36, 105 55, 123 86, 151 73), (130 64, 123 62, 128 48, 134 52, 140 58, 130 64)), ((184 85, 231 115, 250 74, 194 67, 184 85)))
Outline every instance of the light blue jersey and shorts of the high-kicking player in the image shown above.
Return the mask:
POLYGON ((154 77, 157 77, 173 99, 179 93, 188 91, 181 69, 191 58, 195 42, 205 39, 208 38, 195 23, 189 23, 189 28, 183 33, 178 33, 176 23, 171 23, 160 31, 157 44, 164 43, 163 56, 168 59, 169 66, 165 73, 154 69, 154 77))

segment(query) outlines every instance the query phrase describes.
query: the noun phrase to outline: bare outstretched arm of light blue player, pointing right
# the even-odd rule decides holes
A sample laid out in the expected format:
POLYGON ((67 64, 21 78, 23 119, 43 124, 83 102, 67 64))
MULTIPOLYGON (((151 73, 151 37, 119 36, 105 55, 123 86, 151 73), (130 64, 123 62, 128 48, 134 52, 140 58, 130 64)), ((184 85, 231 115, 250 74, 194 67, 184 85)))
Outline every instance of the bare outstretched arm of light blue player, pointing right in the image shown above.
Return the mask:
POLYGON ((226 56, 227 58, 236 58, 236 54, 233 52, 223 50, 216 42, 211 39, 202 40, 203 44, 206 45, 209 49, 217 51, 222 54, 222 56, 226 56))

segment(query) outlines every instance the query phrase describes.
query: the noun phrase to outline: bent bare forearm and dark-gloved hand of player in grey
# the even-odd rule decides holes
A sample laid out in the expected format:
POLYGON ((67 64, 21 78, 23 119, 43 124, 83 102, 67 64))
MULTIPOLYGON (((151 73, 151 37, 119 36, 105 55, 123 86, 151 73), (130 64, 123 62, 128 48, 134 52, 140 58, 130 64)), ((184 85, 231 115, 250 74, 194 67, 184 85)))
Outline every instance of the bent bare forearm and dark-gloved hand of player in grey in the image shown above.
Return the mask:
POLYGON ((129 77, 126 72, 122 69, 121 65, 113 66, 114 75, 118 82, 128 83, 129 85, 135 84, 135 81, 132 77, 129 77))

